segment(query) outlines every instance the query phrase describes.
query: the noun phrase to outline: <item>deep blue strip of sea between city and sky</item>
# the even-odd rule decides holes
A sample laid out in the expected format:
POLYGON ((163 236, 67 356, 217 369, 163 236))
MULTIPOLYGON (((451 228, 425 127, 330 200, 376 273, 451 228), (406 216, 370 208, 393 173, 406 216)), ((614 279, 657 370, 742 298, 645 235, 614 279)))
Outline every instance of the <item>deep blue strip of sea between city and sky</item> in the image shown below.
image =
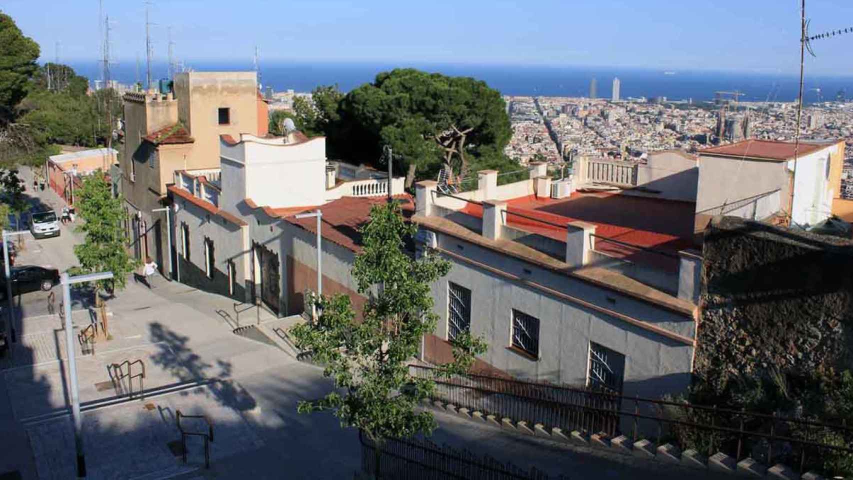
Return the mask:
MULTIPOLYGON (((72 61, 71 67, 80 75, 94 80, 101 78, 96 61, 72 61)), ((253 70, 252 61, 185 61, 184 67, 197 71, 253 70)), ((371 82, 379 72, 393 68, 413 67, 427 72, 451 76, 473 77, 499 90, 502 95, 589 96, 589 84, 596 79, 597 97, 610 98, 612 78, 620 80, 621 98, 660 97, 670 100, 705 101, 714 98, 717 90, 739 90, 741 101, 795 101, 799 78, 792 73, 736 72, 699 69, 664 69, 642 67, 548 67, 525 65, 488 65, 470 63, 431 62, 367 62, 367 61, 266 61, 260 64, 260 81, 264 88, 309 92, 319 85, 337 84, 349 91, 371 82)), ((152 64, 152 78, 167 77, 166 62, 152 64)), ((119 61, 111 67, 111 78, 122 84, 133 84, 136 78, 144 83, 145 64, 119 61)), ((833 100, 839 92, 853 95, 853 76, 806 75, 804 101, 833 100), (821 97, 817 89, 821 90, 821 97)))

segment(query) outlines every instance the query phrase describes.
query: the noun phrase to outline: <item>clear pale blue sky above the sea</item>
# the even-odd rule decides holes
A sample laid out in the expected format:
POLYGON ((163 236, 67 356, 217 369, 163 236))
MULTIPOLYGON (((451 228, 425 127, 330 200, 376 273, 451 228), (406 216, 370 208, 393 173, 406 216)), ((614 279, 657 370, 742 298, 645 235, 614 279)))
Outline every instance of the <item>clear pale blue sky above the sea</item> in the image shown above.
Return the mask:
MULTIPOLYGON (((142 0, 103 0, 117 61, 145 55, 142 0)), ((811 31, 853 26, 850 0, 809 0, 811 31)), ((98 56, 98 0, 3 0, 53 60, 98 56)), ((155 0, 187 61, 381 61, 798 71, 799 0, 155 0)), ((853 75, 853 34, 816 41, 807 71, 853 75)))

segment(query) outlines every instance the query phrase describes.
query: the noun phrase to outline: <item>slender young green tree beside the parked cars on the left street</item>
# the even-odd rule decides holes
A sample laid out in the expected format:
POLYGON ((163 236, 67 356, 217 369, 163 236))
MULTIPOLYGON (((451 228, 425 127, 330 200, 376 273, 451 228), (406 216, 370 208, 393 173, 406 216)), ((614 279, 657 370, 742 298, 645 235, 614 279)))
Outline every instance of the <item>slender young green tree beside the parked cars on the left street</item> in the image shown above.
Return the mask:
POLYGON ((113 272, 113 280, 100 280, 95 286, 95 302, 100 303, 99 293, 111 283, 118 289, 125 288, 127 275, 136 268, 134 260, 125 249, 124 222, 127 214, 122 208, 124 200, 113 198, 112 188, 102 171, 88 176, 83 186, 75 191, 74 205, 83 222, 77 231, 86 235, 82 244, 74 246, 74 254, 83 274, 113 272))

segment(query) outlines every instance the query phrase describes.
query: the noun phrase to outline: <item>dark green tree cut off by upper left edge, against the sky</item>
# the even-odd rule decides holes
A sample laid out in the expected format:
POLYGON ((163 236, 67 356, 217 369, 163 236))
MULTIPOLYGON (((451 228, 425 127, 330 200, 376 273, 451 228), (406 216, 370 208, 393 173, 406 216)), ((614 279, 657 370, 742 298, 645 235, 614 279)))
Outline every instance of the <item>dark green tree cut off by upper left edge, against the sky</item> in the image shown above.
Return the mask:
POLYGON ((38 55, 38 43, 25 37, 12 17, 0 12, 0 126, 15 118, 15 107, 38 68, 38 55))

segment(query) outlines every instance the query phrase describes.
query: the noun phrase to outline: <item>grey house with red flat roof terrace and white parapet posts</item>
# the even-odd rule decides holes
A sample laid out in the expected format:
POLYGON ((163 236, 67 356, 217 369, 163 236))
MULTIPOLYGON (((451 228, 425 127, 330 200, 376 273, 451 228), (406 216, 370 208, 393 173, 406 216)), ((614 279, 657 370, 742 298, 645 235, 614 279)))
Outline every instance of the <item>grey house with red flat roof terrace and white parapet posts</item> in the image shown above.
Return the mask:
POLYGON ((425 361, 452 359, 461 331, 485 336, 476 368, 628 395, 685 390, 693 368, 699 252, 693 205, 623 194, 553 199, 545 165, 531 178, 444 194, 417 184, 421 255, 452 263, 432 286, 425 361))

